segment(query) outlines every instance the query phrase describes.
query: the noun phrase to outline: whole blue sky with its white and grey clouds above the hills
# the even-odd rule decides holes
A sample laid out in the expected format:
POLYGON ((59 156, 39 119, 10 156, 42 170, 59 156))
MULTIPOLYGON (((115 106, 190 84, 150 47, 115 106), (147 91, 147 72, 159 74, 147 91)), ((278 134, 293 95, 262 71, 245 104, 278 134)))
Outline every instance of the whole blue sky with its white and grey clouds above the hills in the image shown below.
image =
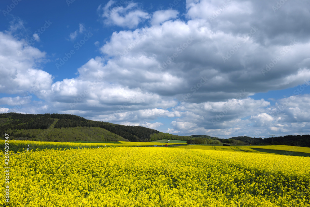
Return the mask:
POLYGON ((309 2, 1 1, 0 113, 310 133, 309 2))

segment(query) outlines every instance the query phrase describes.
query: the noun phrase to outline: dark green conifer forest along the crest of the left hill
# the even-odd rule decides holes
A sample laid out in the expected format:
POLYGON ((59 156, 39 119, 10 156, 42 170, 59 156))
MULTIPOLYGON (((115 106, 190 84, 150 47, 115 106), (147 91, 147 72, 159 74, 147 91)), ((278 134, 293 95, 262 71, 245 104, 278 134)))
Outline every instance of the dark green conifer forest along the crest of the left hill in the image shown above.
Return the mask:
MULTIPOLYGON (((18 132, 21 129, 47 129, 58 119, 54 128, 76 128, 76 127, 99 127, 106 129, 131 142, 148 142, 150 135, 159 133, 155 129, 141 126, 124 126, 108 122, 92 121, 77 115, 69 114, 0 114, 0 133, 4 134, 11 129, 14 137, 34 138, 33 134, 18 132)), ((172 135, 173 136, 173 135, 172 135)), ((158 137, 159 138, 159 137, 158 137)), ((74 140, 75 141, 75 140, 74 140)), ((109 140, 107 140, 109 141, 109 140)), ((114 141, 114 140, 113 140, 114 141)))

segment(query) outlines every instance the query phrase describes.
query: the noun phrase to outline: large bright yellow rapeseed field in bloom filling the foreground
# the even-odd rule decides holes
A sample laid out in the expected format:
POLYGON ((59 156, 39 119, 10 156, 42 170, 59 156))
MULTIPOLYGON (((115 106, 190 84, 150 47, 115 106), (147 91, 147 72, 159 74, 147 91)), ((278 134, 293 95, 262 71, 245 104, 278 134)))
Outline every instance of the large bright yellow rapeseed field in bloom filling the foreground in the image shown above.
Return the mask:
POLYGON ((309 157, 109 147, 19 152, 10 166, 16 207, 310 206, 309 157))

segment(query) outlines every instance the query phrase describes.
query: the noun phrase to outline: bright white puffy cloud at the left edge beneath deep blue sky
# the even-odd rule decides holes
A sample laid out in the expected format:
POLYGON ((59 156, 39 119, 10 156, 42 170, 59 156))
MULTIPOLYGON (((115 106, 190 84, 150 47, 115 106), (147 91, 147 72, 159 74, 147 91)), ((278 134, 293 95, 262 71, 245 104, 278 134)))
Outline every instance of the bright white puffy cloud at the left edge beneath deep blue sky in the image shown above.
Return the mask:
POLYGON ((25 95, 27 91, 43 93, 51 87, 51 74, 38 69, 45 52, 29 46, 24 39, 0 32, 0 91, 25 95))

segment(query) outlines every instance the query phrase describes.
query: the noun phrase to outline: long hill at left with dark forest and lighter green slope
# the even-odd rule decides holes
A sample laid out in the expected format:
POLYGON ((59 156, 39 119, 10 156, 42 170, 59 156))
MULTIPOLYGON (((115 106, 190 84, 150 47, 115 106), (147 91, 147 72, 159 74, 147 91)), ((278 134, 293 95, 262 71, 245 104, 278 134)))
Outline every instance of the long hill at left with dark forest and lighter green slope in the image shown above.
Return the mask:
MULTIPOLYGON (((155 129, 93 121, 69 114, 0 114, 0 133, 10 134, 16 140, 53 142, 149 142, 163 137, 163 133, 155 129)), ((165 136, 175 140, 190 138, 172 134, 165 136)))

